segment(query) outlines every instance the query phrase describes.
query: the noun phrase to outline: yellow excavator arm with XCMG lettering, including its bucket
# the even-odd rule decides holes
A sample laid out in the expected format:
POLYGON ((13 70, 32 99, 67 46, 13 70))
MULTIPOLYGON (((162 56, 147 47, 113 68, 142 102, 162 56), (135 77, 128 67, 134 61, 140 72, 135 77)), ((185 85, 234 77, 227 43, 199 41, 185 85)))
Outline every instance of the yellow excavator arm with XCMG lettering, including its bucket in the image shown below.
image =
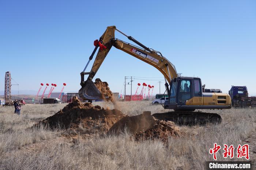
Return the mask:
MULTIPOLYGON (((140 47, 131 45, 130 43, 117 39, 114 36, 115 31, 118 31, 124 36, 127 36, 120 30, 118 30, 115 26, 110 26, 107 27, 106 31, 99 38, 99 40, 94 43, 95 49, 91 54, 89 61, 87 62, 87 65, 84 68, 83 72, 80 73, 80 85, 82 86, 82 88, 79 90, 80 97, 84 98, 85 100, 95 100, 102 98, 101 92, 99 92, 97 87, 94 85, 92 79, 97 73, 99 67, 101 66, 102 62, 104 61, 106 55, 108 54, 112 46, 154 66, 165 77, 166 86, 168 86, 167 82, 170 83, 174 77, 177 77, 175 66, 171 62, 169 62, 165 57, 163 57, 160 52, 154 51, 153 49, 149 49, 148 47, 144 46, 131 36, 127 36, 127 38, 135 42, 140 47), (99 46, 100 49, 96 55, 91 71, 85 72, 89 62, 93 59, 93 55, 95 54, 99 46), (89 74, 89 76, 87 80, 84 81, 84 75, 86 74, 89 74)), ((169 93, 169 89, 167 90, 167 92, 169 93)))

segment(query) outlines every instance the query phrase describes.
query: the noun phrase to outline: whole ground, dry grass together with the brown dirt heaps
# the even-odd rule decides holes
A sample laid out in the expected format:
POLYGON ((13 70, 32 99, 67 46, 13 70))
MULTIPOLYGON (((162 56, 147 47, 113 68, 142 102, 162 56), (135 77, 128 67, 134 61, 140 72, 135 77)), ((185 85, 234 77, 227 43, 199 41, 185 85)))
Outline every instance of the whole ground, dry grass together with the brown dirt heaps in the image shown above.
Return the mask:
POLYGON ((249 144, 255 165, 256 109, 210 111, 222 122, 203 125, 152 116, 163 112, 150 101, 0 107, 0 169, 204 169, 214 143, 249 144))

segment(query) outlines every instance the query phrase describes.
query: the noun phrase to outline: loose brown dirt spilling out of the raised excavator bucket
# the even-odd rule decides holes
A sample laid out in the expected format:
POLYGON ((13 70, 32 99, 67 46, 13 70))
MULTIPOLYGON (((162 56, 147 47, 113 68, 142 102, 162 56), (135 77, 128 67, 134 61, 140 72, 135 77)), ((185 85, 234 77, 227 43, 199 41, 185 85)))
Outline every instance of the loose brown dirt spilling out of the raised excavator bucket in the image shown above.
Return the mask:
POLYGON ((104 100, 111 101, 112 103, 114 102, 113 94, 112 94, 111 90, 109 89, 107 82, 98 81, 98 82, 94 82, 94 84, 101 92, 102 98, 104 98, 104 100))

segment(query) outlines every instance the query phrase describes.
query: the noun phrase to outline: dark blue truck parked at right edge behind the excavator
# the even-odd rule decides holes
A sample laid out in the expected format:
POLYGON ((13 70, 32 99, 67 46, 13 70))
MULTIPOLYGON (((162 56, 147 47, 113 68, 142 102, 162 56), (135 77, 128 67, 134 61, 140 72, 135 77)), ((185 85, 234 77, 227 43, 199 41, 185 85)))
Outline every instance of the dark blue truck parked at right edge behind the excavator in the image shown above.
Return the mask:
POLYGON ((229 90, 229 96, 233 107, 246 108, 256 106, 256 97, 248 96, 246 86, 232 86, 229 90))

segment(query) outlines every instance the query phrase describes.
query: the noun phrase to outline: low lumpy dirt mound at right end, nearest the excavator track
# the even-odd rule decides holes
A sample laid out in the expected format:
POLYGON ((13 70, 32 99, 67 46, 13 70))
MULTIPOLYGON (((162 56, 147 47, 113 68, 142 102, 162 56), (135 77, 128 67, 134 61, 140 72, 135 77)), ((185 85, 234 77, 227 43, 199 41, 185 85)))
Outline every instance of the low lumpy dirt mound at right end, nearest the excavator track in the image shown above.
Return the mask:
POLYGON ((168 137, 180 136, 180 130, 172 121, 158 120, 156 124, 145 131, 141 131, 132 135, 135 140, 160 139, 167 142, 168 137))

